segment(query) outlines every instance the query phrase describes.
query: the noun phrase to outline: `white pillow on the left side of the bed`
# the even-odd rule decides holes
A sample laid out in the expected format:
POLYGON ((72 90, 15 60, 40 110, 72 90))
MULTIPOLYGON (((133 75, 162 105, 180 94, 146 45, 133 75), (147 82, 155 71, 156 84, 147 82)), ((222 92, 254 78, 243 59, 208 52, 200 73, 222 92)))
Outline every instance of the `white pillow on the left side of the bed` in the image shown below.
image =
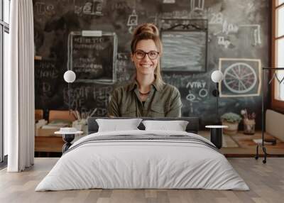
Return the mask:
POLYGON ((142 119, 96 119, 98 132, 138 130, 142 119))

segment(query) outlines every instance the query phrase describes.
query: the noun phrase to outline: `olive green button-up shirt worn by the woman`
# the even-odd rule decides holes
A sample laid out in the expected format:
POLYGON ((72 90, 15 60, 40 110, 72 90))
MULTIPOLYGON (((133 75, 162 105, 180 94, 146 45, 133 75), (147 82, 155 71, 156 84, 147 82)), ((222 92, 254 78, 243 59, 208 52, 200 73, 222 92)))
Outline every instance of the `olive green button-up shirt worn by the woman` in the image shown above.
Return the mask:
POLYGON ((108 116, 115 117, 180 117, 182 101, 180 92, 170 84, 151 85, 148 99, 139 98, 138 84, 133 82, 114 89, 108 106, 108 116))

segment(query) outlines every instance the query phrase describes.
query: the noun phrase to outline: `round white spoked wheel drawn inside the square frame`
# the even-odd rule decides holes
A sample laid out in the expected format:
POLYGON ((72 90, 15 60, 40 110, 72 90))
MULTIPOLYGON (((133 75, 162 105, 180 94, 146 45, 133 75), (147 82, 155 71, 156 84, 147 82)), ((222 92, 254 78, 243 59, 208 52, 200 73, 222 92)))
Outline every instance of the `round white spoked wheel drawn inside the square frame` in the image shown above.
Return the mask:
POLYGON ((227 67, 224 72, 224 85, 236 94, 251 91, 256 82, 256 71, 244 62, 236 62, 227 67))

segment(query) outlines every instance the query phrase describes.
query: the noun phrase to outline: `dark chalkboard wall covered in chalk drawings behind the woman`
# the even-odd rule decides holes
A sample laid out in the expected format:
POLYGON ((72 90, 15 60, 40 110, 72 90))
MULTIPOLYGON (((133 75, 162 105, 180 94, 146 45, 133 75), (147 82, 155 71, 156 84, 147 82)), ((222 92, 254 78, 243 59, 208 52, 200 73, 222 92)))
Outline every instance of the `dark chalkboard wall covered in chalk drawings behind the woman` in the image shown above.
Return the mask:
POLYGON ((269 1, 34 0, 33 11, 35 55, 41 57, 35 60, 35 109, 68 109, 63 74, 72 69, 80 78, 72 84, 72 109, 97 108, 94 116, 106 116, 109 95, 133 75, 130 43, 137 24, 155 23, 163 33, 173 26, 169 19, 180 23, 182 19, 203 19, 207 33, 185 31, 180 35, 181 41, 191 40, 180 49, 180 55, 186 57, 188 53, 190 60, 185 59, 185 63, 169 45, 180 33, 164 33, 162 38, 168 55, 162 59, 163 79, 180 90, 182 116, 200 116, 202 126, 214 123, 215 84, 210 75, 222 70, 225 78, 219 86, 219 114, 240 114, 246 108, 256 112, 259 126, 260 69, 268 67, 269 62, 269 1), (82 31, 103 34, 84 36, 82 31), (207 36, 207 43, 202 35, 207 36), (173 60, 169 61, 169 57, 173 60))

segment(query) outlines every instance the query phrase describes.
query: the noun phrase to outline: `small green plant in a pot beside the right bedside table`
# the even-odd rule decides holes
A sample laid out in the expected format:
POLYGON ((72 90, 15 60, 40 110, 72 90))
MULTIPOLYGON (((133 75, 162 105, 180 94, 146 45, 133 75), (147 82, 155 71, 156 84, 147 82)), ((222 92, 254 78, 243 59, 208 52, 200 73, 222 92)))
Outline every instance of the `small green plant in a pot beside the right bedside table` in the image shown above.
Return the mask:
POLYGON ((234 135, 238 132, 239 122, 241 121, 241 116, 238 114, 229 112, 221 116, 222 125, 228 126, 224 128, 224 134, 234 135))

